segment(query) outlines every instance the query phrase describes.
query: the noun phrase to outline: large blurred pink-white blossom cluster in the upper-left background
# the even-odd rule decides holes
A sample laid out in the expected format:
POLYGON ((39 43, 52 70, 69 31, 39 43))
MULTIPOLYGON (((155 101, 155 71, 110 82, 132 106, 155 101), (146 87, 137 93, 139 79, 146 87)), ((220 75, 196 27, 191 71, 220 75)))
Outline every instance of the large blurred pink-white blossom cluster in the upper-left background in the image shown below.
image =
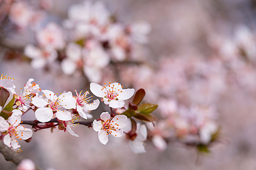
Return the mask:
POLYGON ((11 21, 20 28, 31 26, 31 18, 38 25, 33 31, 36 43, 24 48, 33 68, 45 68, 59 61, 63 73, 83 72, 91 82, 98 83, 103 78, 103 68, 111 62, 142 59, 142 45, 148 42, 150 32, 146 22, 124 26, 100 1, 72 5, 62 24, 46 21, 46 17, 41 17, 46 12, 34 14, 33 8, 36 7, 25 1, 17 1, 9 13, 11 21))

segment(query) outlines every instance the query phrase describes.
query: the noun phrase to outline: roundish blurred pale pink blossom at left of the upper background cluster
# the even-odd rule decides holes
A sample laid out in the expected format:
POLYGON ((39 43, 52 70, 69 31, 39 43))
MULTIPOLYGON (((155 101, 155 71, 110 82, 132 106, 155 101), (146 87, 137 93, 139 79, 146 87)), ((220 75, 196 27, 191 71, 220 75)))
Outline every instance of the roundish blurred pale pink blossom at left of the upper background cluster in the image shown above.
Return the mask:
POLYGON ((65 40, 62 29, 54 22, 48 23, 36 34, 41 47, 60 50, 64 48, 65 40))

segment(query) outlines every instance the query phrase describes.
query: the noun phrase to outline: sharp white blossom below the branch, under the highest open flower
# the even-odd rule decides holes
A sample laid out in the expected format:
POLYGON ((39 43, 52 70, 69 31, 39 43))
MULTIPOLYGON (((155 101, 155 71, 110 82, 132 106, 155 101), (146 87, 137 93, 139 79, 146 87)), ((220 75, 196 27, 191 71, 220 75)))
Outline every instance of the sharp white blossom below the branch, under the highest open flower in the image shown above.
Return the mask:
POLYGON ((93 121, 93 129, 98 132, 100 143, 105 145, 108 142, 109 134, 116 137, 123 136, 122 128, 124 128, 126 124, 127 117, 125 115, 117 115, 112 118, 108 112, 103 112, 100 115, 100 120, 93 121))

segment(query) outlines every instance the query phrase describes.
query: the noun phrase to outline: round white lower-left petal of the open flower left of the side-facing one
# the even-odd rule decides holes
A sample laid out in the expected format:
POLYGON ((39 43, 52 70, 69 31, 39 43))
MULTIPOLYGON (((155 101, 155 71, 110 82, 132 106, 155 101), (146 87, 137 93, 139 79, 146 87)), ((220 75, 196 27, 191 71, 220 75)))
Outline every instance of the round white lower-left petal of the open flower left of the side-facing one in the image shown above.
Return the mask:
POLYGON ((35 115, 40 122, 47 122, 53 118, 53 110, 49 107, 42 107, 36 110, 35 115))

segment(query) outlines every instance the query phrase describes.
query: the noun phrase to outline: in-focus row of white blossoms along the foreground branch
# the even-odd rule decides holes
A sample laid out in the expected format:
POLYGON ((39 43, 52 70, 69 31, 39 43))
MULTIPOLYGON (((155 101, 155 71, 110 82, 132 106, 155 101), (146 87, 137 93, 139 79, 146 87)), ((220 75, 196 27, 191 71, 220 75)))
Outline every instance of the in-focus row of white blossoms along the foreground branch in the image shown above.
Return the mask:
MULTIPOLYGON (((17 94, 12 88, 15 87, 13 81, 14 79, 3 75, 0 79, 0 103, 3 103, 0 106, 0 133, 4 144, 17 151, 21 151, 17 139, 31 140, 33 134, 31 129, 21 125, 27 122, 21 120, 22 115, 30 109, 35 112, 36 120, 30 124, 35 132, 58 126, 59 130, 68 131, 72 136, 79 137, 71 127, 76 127, 80 118, 93 118, 90 111, 99 106, 98 99, 91 102, 93 96, 89 96, 88 91, 84 93, 75 91, 76 96, 73 96, 71 91, 55 94, 50 90, 41 90, 32 78, 21 88, 20 94, 17 94)), ((100 97, 111 111, 103 112, 99 119, 87 122, 89 127, 93 127, 98 132, 100 143, 106 145, 110 134, 121 137, 124 134, 129 136, 131 131, 136 131, 133 133, 136 138, 127 139, 130 140, 134 153, 144 153, 143 142, 147 138, 145 124, 141 125, 138 122, 137 128, 134 129, 132 118, 128 119, 125 114, 115 111, 124 109, 124 100, 130 99, 135 90, 123 89, 119 83, 109 83, 104 86, 91 83, 90 90, 95 96, 100 97)))

